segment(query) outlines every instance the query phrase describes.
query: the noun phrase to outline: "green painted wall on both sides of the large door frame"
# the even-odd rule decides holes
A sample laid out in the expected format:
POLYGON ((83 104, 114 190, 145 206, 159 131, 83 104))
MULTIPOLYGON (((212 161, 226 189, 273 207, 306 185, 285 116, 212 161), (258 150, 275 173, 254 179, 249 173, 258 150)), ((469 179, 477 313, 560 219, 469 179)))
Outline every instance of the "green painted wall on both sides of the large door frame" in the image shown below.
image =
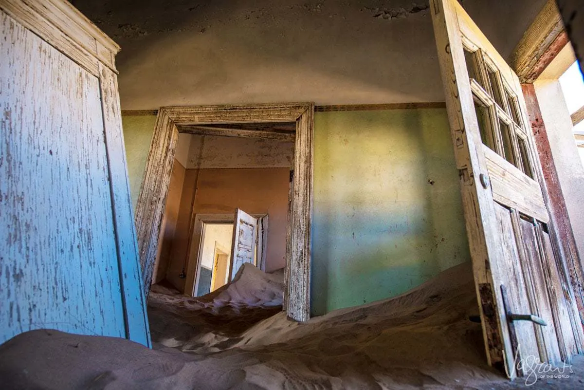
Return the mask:
MULTIPOLYGON (((134 208, 154 124, 123 117, 134 208)), ((313 315, 393 297, 469 259, 445 109, 315 113, 313 315)))

